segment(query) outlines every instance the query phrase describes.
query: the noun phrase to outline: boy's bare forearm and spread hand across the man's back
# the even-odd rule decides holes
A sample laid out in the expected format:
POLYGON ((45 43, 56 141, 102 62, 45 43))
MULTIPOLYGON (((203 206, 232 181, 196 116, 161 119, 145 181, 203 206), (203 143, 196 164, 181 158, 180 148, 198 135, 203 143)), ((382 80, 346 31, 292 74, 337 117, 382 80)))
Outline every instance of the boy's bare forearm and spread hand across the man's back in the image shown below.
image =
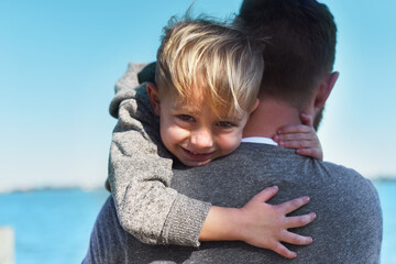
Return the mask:
POLYGON ((205 221, 200 240, 240 240, 257 248, 275 251, 288 258, 296 257, 297 254, 280 242, 297 245, 310 244, 312 238, 298 235, 288 229, 312 222, 316 215, 311 212, 298 217, 287 217, 287 213, 307 205, 309 198, 301 197, 275 206, 266 204, 277 191, 277 186, 268 187, 255 195, 240 209, 212 206, 205 221), (209 237, 207 238, 207 235, 209 237))

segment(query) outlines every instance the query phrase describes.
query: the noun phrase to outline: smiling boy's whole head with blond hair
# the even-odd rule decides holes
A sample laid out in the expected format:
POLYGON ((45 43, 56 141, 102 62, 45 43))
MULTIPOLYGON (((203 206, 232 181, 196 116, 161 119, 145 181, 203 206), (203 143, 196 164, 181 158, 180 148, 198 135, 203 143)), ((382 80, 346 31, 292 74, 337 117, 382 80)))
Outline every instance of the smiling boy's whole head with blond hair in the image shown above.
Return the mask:
POLYGON ((188 166, 234 151, 256 106, 264 62, 262 44, 208 20, 165 28, 156 86, 147 92, 160 116, 165 146, 188 166))

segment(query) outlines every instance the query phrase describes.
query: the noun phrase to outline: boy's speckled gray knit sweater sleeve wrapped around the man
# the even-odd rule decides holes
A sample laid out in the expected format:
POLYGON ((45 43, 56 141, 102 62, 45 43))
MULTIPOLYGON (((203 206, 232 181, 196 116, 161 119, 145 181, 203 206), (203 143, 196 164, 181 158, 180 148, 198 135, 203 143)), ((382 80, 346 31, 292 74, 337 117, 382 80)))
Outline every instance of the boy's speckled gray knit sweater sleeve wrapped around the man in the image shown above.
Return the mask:
POLYGON ((135 68, 116 85, 110 112, 113 131, 109 183, 122 228, 148 244, 199 245, 199 233, 210 204, 169 188, 170 154, 160 138, 160 122, 145 84, 134 87, 135 68))

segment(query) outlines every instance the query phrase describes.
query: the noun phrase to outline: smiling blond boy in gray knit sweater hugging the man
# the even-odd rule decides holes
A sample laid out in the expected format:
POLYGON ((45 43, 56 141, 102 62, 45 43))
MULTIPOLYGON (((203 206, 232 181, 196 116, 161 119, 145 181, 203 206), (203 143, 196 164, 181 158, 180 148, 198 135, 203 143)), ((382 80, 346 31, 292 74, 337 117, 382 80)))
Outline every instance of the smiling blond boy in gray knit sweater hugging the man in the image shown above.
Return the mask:
MULTIPOLYGON (((254 198, 242 209, 219 208, 168 188, 173 160, 165 147, 185 165, 200 166, 239 146, 242 129, 257 106, 261 51, 239 30, 186 20, 165 32, 157 54, 158 88, 148 84, 150 97, 145 85, 123 90, 122 81, 118 84, 121 89, 111 110, 119 123, 111 146, 109 180, 121 226, 142 242, 197 246, 198 240, 243 240, 286 257, 295 254, 282 248, 279 241, 311 242, 308 237, 286 231, 309 223, 314 213, 286 218, 290 220, 287 224, 278 221, 307 204, 307 197, 285 202, 280 213, 273 216, 275 206, 263 207, 254 198), (152 122, 153 111, 160 116, 161 128, 152 122), (274 240, 277 243, 268 242, 274 240)), ((261 197, 267 200, 276 191, 267 188, 261 197)))

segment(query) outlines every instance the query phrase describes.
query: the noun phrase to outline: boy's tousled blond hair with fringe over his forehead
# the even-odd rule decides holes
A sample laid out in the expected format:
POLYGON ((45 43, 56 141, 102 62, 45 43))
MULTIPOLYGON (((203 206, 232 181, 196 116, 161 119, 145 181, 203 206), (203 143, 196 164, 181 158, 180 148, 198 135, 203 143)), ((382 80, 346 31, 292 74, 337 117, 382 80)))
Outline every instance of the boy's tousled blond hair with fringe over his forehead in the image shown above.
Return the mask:
POLYGON ((263 45, 242 30, 207 19, 184 19, 164 29, 157 52, 160 95, 188 102, 201 89, 216 112, 250 111, 264 70, 263 45))

